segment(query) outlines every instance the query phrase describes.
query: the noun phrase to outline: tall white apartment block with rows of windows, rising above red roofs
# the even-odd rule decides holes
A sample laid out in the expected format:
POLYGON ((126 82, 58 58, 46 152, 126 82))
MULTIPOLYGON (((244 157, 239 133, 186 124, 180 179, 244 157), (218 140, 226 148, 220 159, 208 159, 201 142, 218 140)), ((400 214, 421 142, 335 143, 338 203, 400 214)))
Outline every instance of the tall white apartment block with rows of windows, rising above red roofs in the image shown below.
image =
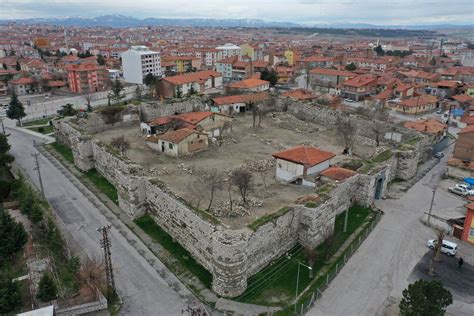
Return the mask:
POLYGON ((132 46, 122 53, 123 78, 125 82, 142 84, 149 73, 161 77, 161 57, 159 52, 146 46, 132 46))

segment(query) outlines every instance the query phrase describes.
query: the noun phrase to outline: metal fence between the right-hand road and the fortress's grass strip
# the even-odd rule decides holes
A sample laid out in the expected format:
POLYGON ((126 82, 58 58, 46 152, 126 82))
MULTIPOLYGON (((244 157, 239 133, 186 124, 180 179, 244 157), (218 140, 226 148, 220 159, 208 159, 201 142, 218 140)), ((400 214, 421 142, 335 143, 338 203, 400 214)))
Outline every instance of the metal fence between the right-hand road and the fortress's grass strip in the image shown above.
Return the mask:
MULTIPOLYGON (((347 249, 342 253, 342 255, 336 260, 336 264, 333 265, 328 273, 325 276, 319 277, 315 284, 320 284, 314 290, 307 290, 304 291, 300 297, 302 297, 297 303, 296 307, 294 305, 291 306, 291 311, 288 310, 289 313, 293 315, 304 315, 308 312, 311 307, 316 304, 316 302, 321 298, 323 295, 324 290, 329 286, 332 280, 337 276, 337 274, 341 271, 341 269, 346 265, 349 258, 354 254, 354 252, 359 248, 362 242, 369 236, 370 232, 374 229, 377 223, 380 221, 382 217, 382 211, 377 210, 375 215, 375 219, 360 233, 359 236, 356 237, 351 244, 347 247, 347 249), (308 293, 309 292, 309 293, 308 293), (308 295, 309 294, 309 295, 308 295)), ((311 286, 311 285, 310 285, 311 286)))

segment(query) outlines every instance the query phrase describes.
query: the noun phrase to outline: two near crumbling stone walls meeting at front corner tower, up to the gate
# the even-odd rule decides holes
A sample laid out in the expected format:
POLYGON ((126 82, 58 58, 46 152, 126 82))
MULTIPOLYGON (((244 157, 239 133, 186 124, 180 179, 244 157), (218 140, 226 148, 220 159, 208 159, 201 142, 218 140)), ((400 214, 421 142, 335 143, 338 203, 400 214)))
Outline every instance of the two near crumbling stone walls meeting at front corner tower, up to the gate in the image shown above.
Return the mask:
POLYGON ((162 183, 147 178, 140 165, 93 139, 70 120, 73 119, 55 121, 54 127, 57 140, 71 147, 76 166, 84 171, 95 168, 114 184, 119 206, 130 217, 149 212, 163 230, 212 273, 213 290, 225 297, 242 294, 250 276, 297 243, 318 245, 323 229, 333 229, 337 214, 354 202, 371 205, 377 179, 393 177, 387 166, 374 175, 357 174, 337 183, 314 208, 290 205, 280 216, 254 230, 232 230, 199 214, 162 183))

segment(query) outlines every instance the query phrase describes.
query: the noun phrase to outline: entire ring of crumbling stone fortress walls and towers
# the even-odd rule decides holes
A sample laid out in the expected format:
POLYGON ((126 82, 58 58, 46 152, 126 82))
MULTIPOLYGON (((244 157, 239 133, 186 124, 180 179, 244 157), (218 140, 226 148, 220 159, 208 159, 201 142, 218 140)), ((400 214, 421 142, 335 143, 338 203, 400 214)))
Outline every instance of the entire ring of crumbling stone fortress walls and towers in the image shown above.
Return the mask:
MULTIPOLYGON (((288 106, 286 102, 277 100, 279 111, 321 124, 335 124, 337 116, 345 115, 311 103, 293 102, 288 106)), ((121 111, 113 125, 134 125, 139 129, 140 117, 189 112, 200 107, 203 107, 201 100, 143 105, 141 111, 136 108, 121 111)), ((352 119, 362 126, 365 124, 363 119, 355 116, 352 119)), ((353 203, 370 206, 376 196, 385 194, 390 181, 413 177, 418 164, 430 156, 431 142, 426 135, 397 127, 400 143, 391 149, 389 157, 367 164, 364 170, 344 181, 327 184, 318 203, 311 207, 289 203, 258 226, 231 229, 196 211, 167 190, 159 179, 147 175, 141 165, 95 139, 94 133, 112 126, 100 114, 92 113, 88 119, 55 120, 53 124, 57 141, 72 149, 77 168, 96 169, 112 183, 118 191, 120 208, 131 218, 149 213, 212 273, 212 289, 224 297, 242 294, 250 276, 297 243, 317 246, 322 242, 323 230, 327 226, 333 229, 336 215, 353 203)))

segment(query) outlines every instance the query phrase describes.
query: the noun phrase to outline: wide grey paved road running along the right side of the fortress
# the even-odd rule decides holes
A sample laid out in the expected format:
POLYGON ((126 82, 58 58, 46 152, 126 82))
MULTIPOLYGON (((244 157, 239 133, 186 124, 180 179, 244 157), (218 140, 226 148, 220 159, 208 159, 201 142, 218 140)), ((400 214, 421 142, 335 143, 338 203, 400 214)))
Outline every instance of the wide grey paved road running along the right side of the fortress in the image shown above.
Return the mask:
MULTIPOLYGON (((419 219, 429 209, 432 186, 446 160, 400 199, 379 201, 377 205, 385 212, 382 220, 308 315, 383 315, 389 300, 401 296, 413 268, 428 251, 426 240, 435 236, 419 219)), ((464 203, 459 197, 438 190, 433 209, 464 203)), ((448 311, 472 315, 474 306, 456 302, 448 311)))

